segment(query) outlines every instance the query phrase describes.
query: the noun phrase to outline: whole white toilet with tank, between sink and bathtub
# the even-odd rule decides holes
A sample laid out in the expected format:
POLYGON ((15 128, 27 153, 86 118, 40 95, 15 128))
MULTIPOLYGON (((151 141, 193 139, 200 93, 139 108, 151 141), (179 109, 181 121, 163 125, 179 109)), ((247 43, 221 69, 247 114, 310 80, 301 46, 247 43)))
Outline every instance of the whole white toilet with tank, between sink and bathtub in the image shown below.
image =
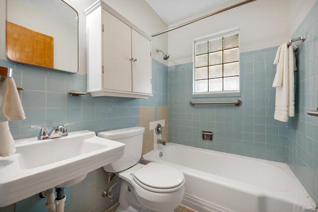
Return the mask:
POLYGON ((116 212, 173 212, 183 198, 183 173, 161 163, 139 163, 144 132, 143 127, 131 127, 97 134, 126 144, 124 155, 103 167, 123 179, 116 212))

